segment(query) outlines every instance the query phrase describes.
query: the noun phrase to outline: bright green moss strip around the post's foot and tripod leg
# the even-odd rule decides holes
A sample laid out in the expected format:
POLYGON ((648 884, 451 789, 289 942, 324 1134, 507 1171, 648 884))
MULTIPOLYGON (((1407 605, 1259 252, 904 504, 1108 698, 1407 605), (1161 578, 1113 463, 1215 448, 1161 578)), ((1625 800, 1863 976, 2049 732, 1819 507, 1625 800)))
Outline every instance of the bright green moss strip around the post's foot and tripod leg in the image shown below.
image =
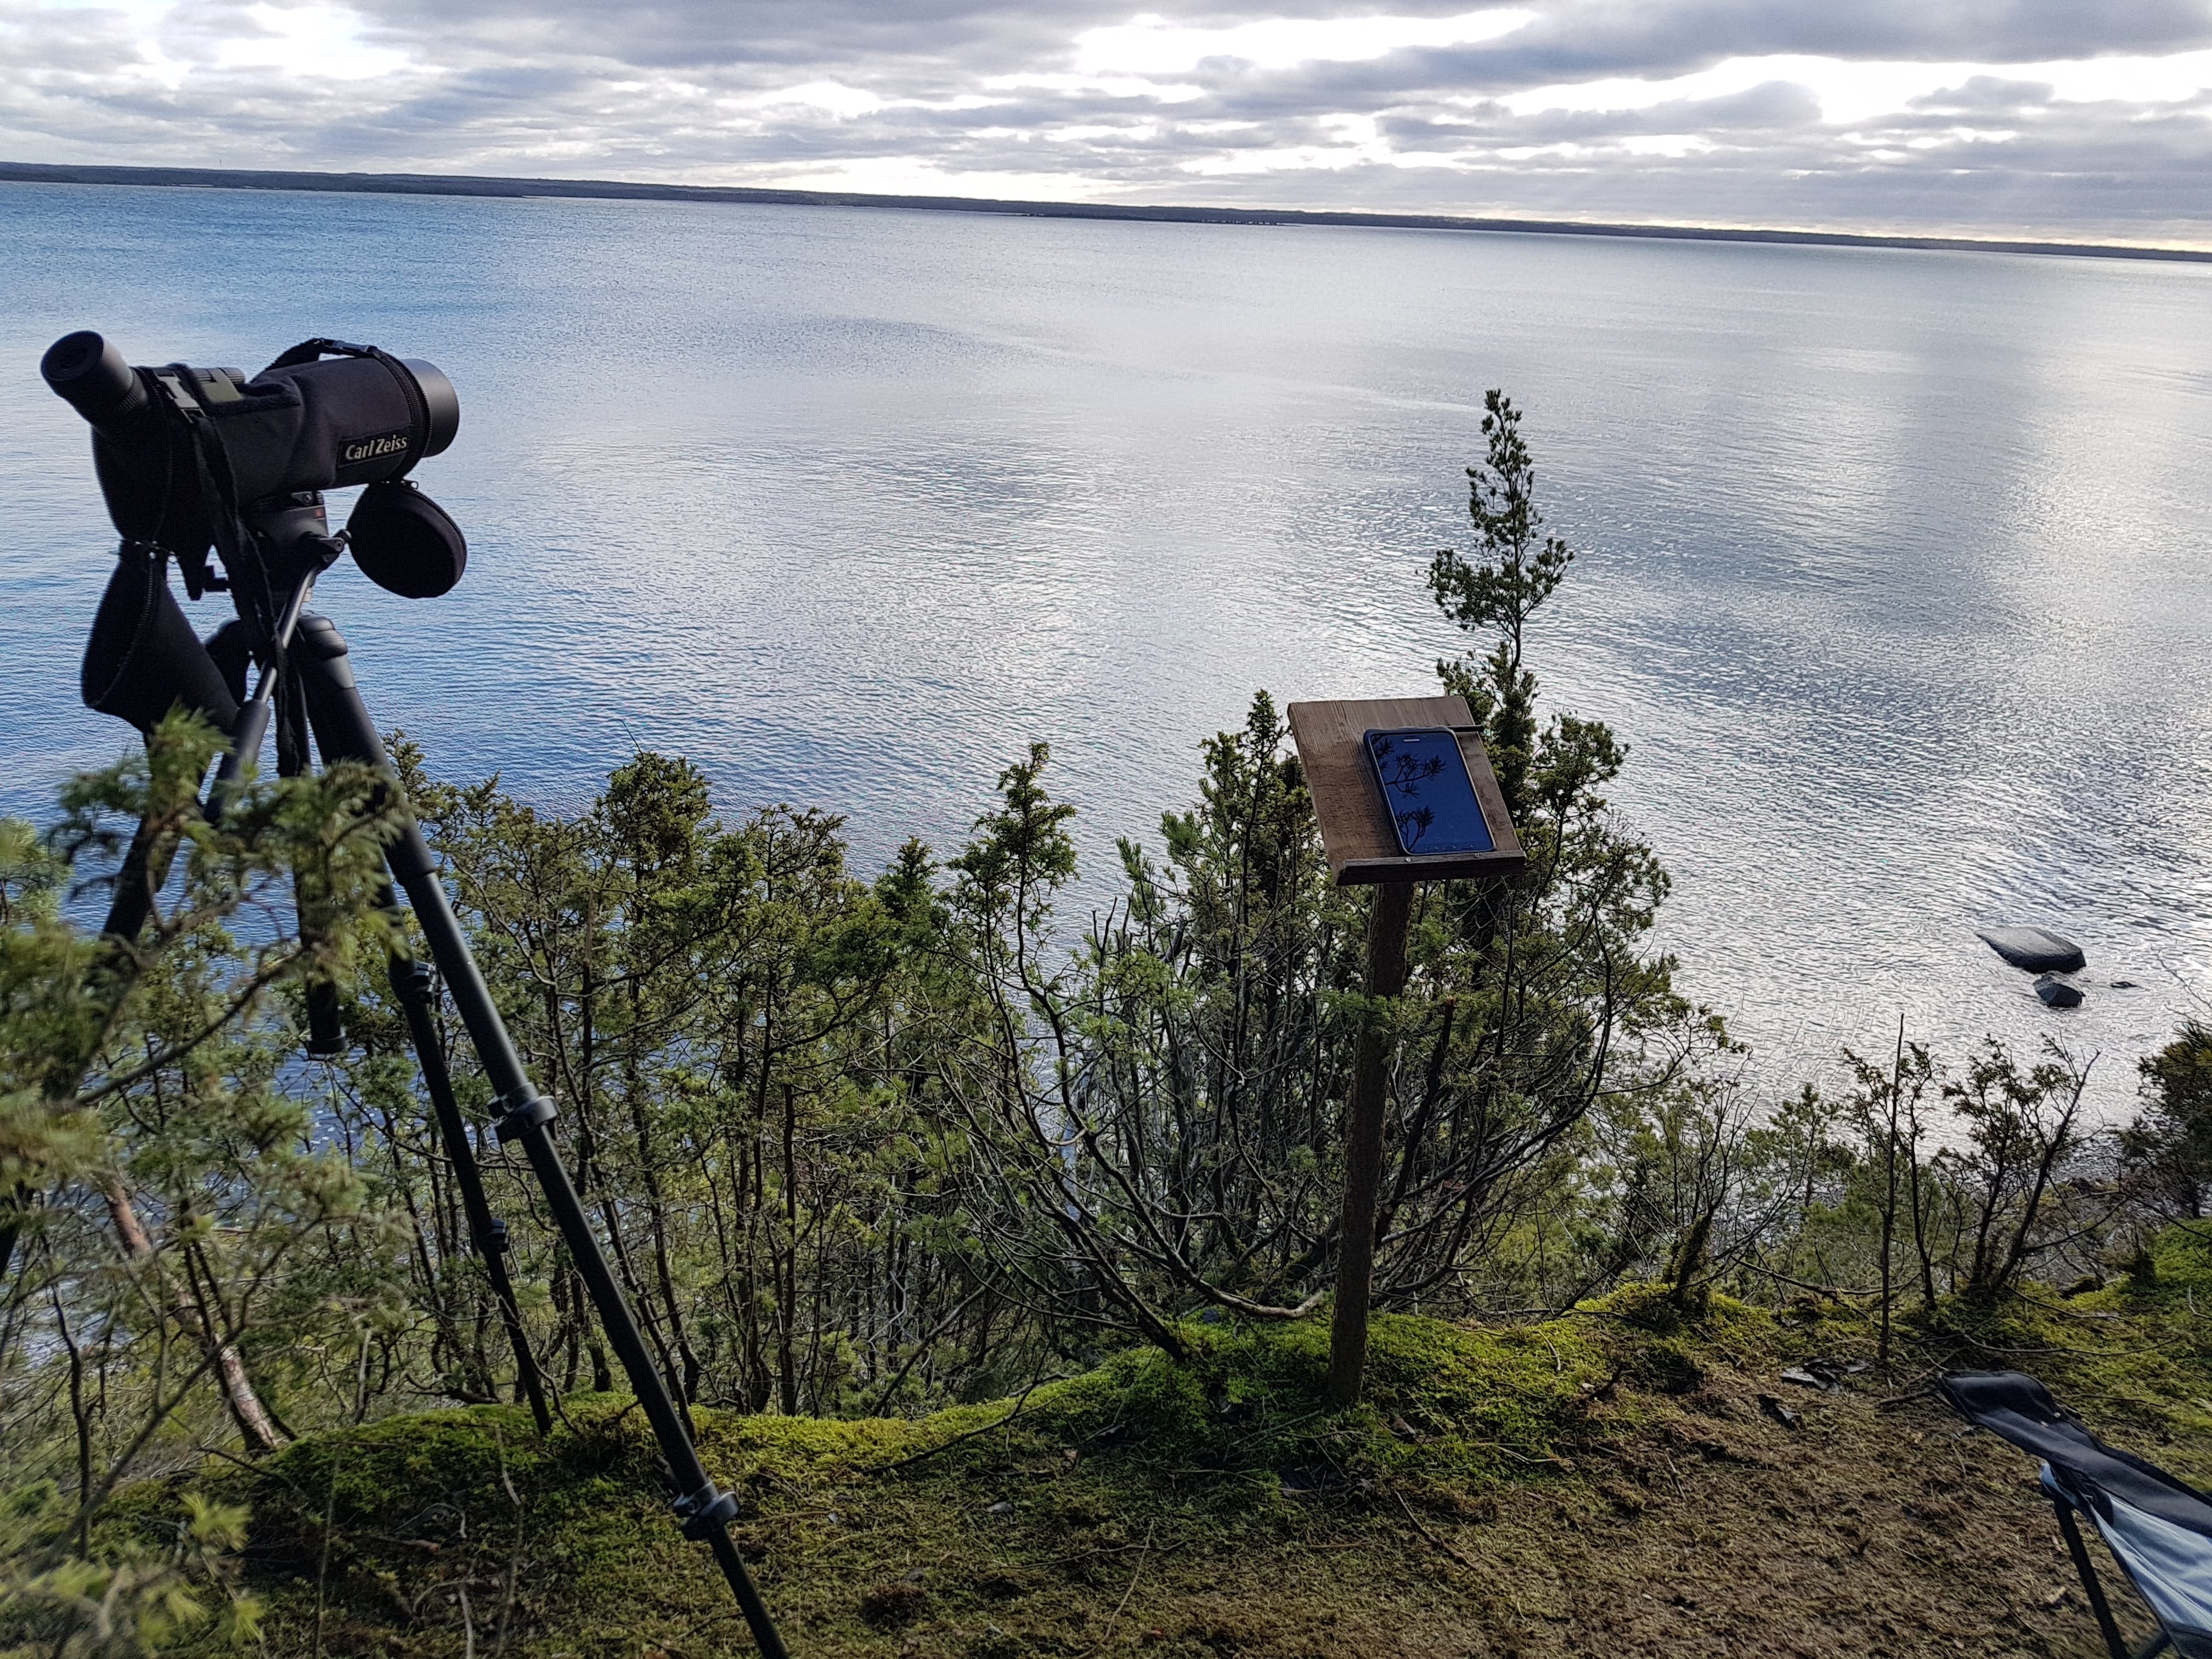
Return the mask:
MULTIPOLYGON (((1148 1533, 1157 1562, 1234 1559, 1316 1522, 1398 1528, 1378 1537, 1391 1544, 1402 1502, 1451 1513, 1557 1482, 1562 1451, 1610 1431, 1588 1402, 1617 1369, 1604 1325, 1378 1318, 1376 1394, 1349 1416, 1325 1407, 1314 1327, 1206 1325, 1190 1329, 1188 1363, 1124 1349, 916 1420, 695 1420, 714 1478, 743 1500, 739 1540, 794 1646, 876 1652, 880 1584, 918 1582, 909 1613, 925 1624, 973 1613, 1013 1626, 1002 1608, 1018 1595, 1029 1619, 1086 1604, 1104 1617, 1148 1533)), ((431 1411, 314 1436, 186 1491, 252 1495, 279 1652, 312 1650, 316 1630, 332 1652, 394 1637, 460 1652, 462 1617, 478 1652, 502 1630, 524 1652, 679 1650, 672 1632, 721 1617, 726 1593, 653 1495, 653 1462, 624 1400, 575 1396, 544 1442, 511 1407, 431 1411)), ((175 1502, 148 1502, 139 1531, 175 1502)))

